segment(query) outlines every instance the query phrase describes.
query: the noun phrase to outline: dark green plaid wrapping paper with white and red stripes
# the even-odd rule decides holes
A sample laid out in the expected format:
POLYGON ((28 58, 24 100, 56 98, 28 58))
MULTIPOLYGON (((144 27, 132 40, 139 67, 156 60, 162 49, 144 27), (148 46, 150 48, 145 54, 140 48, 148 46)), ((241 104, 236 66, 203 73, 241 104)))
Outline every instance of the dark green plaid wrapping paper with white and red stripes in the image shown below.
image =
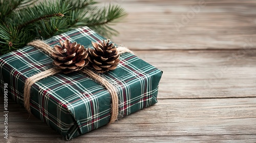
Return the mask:
MULTIPOLYGON (((92 48, 91 41, 105 39, 88 27, 78 28, 45 40, 51 46, 69 39, 92 48)), ((131 53, 121 55, 113 71, 102 74, 116 86, 119 114, 129 115, 157 103, 162 71, 131 53)), ((24 105, 24 83, 27 78, 51 68, 52 59, 33 46, 0 57, 0 84, 8 83, 9 95, 24 105)), ((111 96, 108 90, 77 72, 56 74, 42 79, 31 88, 31 112, 41 121, 65 136, 67 140, 108 124, 111 96)))

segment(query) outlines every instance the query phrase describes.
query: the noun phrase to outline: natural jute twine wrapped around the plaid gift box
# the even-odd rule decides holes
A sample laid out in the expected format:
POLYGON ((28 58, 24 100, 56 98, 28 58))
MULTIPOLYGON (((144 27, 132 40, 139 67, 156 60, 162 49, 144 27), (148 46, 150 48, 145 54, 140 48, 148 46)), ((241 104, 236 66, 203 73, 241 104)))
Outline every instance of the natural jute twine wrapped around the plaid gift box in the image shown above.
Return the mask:
MULTIPOLYGON (((44 51, 46 54, 48 54, 50 56, 54 52, 54 50, 52 49, 51 46, 49 46, 48 44, 46 44, 44 41, 41 41, 41 40, 32 41, 32 42, 28 43, 28 45, 32 45, 32 46, 36 47, 37 49, 44 51)), ((132 51, 130 51, 126 47, 118 47, 117 51, 118 51, 119 55, 121 55, 123 53, 134 54, 132 51)), ((49 77, 49 76, 52 76, 52 75, 55 75, 55 74, 58 74, 61 72, 62 72, 61 69, 57 69, 57 68, 53 67, 53 68, 47 69, 45 71, 42 71, 41 73, 33 75, 32 77, 29 77, 26 80, 25 87, 24 87, 24 107, 28 110, 28 112, 30 112, 30 110, 31 110, 30 109, 31 86, 35 82, 37 82, 41 79, 44 79, 46 77, 49 77)), ((88 75, 91 79, 95 80, 100 85, 104 86, 110 92, 112 104, 111 104, 111 118, 110 118, 109 123, 114 123, 117 120, 117 116, 118 116, 118 93, 115 89, 115 86, 112 85, 108 80, 106 80, 102 76, 99 76, 98 74, 94 73, 88 67, 84 67, 84 68, 80 69, 79 72, 88 75)))

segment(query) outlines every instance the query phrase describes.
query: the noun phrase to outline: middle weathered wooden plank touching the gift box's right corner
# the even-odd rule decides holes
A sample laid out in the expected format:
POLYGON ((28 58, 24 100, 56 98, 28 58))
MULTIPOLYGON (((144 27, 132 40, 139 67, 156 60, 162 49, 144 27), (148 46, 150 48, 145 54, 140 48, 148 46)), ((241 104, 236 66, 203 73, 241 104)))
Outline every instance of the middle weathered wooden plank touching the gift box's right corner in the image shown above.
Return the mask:
POLYGON ((163 70, 161 99, 256 97, 256 50, 135 53, 163 70))

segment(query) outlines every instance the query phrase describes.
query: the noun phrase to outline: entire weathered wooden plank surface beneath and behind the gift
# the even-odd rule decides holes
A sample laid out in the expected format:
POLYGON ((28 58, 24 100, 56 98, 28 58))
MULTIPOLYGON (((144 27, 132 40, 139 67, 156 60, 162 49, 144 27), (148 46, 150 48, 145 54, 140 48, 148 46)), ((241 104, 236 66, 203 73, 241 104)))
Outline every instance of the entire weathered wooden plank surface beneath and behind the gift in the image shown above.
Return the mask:
MULTIPOLYGON (((256 142, 256 1, 101 2, 129 12, 112 40, 164 71, 159 102, 67 142, 256 142), (194 16, 191 7, 200 7, 194 16)), ((3 96, 0 103, 3 114, 3 96)), ((4 142, 65 141, 22 106, 8 106, 4 142)))

